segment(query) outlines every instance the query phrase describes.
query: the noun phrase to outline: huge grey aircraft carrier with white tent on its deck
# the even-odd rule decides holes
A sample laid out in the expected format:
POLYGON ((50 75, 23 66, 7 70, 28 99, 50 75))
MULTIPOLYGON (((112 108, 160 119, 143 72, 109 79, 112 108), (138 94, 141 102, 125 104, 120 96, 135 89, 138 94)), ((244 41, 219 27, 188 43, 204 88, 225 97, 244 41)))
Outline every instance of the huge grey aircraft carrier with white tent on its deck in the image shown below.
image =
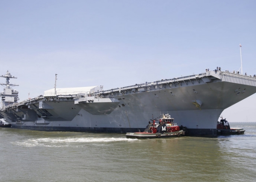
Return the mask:
MULTIPOLYGON (((7 71, 0 117, 12 127, 43 131, 126 133, 170 114, 189 135, 216 135, 221 112, 256 93, 256 77, 228 71, 146 82, 102 90, 100 86, 56 88, 18 102, 18 85, 7 71)), ((56 80, 55 80, 56 82, 56 80)), ((56 85, 56 84, 55 84, 56 85)))

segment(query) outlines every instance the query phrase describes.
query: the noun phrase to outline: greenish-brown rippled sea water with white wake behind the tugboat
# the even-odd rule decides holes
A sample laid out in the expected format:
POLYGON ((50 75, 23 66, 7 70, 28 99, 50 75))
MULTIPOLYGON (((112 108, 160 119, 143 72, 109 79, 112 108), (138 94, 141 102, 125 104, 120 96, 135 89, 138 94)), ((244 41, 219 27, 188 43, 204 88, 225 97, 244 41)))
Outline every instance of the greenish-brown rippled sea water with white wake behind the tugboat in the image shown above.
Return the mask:
POLYGON ((245 134, 138 140, 0 128, 0 182, 255 182, 256 123, 230 125, 245 134))

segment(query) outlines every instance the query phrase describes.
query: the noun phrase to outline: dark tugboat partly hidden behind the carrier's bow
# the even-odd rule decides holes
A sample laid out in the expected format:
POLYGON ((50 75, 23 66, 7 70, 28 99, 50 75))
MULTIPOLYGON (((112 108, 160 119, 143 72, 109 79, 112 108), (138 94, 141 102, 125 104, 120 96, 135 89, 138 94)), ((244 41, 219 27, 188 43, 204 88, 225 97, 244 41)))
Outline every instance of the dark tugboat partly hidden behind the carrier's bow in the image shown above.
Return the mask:
POLYGON ((228 121, 223 119, 221 116, 221 120, 217 123, 217 134, 218 135, 233 135, 233 134, 243 134, 245 130, 243 128, 230 128, 228 121))

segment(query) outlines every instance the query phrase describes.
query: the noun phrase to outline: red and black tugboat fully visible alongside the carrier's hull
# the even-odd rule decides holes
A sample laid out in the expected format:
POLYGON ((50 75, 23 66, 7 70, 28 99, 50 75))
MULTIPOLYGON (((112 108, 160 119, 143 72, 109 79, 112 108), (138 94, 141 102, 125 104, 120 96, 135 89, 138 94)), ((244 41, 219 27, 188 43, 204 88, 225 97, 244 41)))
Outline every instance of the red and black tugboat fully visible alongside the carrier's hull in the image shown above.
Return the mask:
POLYGON ((174 118, 169 114, 163 114, 161 119, 149 121, 143 132, 126 133, 126 138, 160 138, 160 137, 180 137, 185 135, 186 127, 178 126, 174 123, 174 118), (159 121, 159 123, 156 123, 159 121))

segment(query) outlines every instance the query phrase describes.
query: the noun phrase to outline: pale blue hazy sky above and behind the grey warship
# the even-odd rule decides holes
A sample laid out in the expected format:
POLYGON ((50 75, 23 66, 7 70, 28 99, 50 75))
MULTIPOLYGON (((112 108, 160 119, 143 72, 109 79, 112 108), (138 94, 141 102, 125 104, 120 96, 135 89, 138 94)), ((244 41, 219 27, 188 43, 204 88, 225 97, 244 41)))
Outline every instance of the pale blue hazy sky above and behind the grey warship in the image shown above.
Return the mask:
MULTIPOLYGON (((20 101, 54 88, 55 74, 59 88, 106 90, 239 70, 239 44, 243 73, 256 74, 255 0, 0 0, 0 75, 18 77, 20 101)), ((255 103, 223 117, 256 121, 255 103)))

